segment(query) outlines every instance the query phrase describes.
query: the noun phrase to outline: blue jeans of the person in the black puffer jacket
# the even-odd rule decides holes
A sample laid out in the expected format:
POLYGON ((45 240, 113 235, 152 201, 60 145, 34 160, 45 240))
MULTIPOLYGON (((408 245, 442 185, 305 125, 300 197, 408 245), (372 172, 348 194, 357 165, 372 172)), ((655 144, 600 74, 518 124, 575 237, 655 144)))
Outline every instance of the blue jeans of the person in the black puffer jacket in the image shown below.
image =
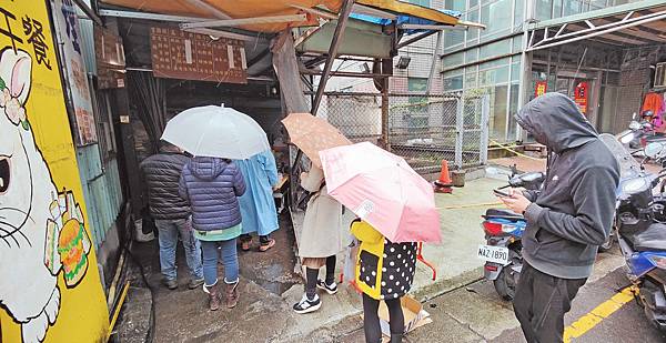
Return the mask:
POLYGON ((203 271, 201 266, 201 245, 194 238, 190 221, 186 219, 155 220, 155 226, 160 234, 160 268, 167 280, 176 279, 175 249, 180 235, 185 249, 185 258, 193 280, 201 280, 203 271))

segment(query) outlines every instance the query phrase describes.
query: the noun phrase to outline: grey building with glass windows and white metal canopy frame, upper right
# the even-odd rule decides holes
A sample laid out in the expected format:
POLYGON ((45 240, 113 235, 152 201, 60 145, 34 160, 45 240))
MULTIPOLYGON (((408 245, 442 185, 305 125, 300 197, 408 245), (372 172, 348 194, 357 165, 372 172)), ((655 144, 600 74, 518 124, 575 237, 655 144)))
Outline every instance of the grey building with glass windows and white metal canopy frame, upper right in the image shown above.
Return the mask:
MULTIPOLYGON (((654 69, 666 50, 666 37, 659 33, 666 29, 660 27, 666 22, 659 17, 663 1, 411 2, 460 11, 462 20, 486 29, 444 30, 401 49, 394 64, 401 57, 410 58, 410 63, 394 69, 391 91, 423 93, 430 82, 435 94, 487 94, 491 144, 523 140, 514 114, 521 104, 551 91, 576 98, 599 131, 620 131, 632 113, 640 111, 644 95, 655 90, 654 69), (646 34, 649 39, 643 38, 646 34), (539 44, 544 39, 546 43, 539 44), (431 73, 433 63, 435 73, 431 73), (617 102, 618 97, 626 101, 617 102)), ((341 70, 359 71, 363 63, 346 62, 341 70)), ((372 80, 359 79, 339 80, 332 87, 335 91, 373 90, 372 80)))

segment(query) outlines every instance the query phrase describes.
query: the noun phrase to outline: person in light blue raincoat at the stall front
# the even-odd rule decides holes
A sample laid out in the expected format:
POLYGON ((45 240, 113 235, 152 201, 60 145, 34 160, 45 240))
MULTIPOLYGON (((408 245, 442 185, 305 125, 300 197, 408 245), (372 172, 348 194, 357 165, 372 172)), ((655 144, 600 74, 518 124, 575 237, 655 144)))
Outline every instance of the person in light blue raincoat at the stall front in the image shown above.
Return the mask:
POLYGON ((273 200, 273 186, 278 184, 275 158, 270 150, 258 153, 248 160, 234 160, 241 170, 248 191, 239 198, 243 216, 241 249, 249 251, 252 244, 251 233, 259 235, 259 250, 264 252, 275 245, 271 232, 278 230, 278 211, 273 200))

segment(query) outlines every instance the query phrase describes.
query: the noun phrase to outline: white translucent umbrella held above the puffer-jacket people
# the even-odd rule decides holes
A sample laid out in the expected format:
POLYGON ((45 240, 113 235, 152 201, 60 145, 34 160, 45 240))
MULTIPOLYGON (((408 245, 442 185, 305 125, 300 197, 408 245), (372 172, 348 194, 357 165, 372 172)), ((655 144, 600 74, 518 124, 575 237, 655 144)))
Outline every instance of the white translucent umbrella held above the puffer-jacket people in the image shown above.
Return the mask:
POLYGON ((244 160, 271 149, 266 133, 248 114, 206 105, 180 112, 167 123, 165 140, 195 157, 244 160))

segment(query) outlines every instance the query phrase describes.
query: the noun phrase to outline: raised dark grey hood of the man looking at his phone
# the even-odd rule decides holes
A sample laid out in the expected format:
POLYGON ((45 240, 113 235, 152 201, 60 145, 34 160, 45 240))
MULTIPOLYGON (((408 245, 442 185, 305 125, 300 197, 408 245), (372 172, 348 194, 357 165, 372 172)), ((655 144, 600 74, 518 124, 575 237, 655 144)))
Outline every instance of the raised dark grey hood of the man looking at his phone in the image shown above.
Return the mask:
POLYGON ((546 93, 529 101, 516 114, 516 120, 538 143, 556 153, 598 137, 576 103, 561 93, 546 93))

